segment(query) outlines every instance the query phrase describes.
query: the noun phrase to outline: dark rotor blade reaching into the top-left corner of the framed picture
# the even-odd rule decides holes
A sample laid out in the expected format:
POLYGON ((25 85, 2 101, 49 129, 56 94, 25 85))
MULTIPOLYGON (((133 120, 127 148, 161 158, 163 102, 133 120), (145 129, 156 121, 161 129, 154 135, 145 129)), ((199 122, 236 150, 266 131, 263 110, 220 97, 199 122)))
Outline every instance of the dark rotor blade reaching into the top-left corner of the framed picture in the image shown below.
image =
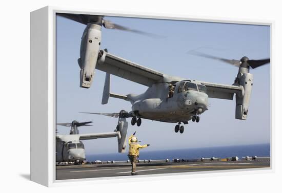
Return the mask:
POLYGON ((81 24, 98 24, 102 25, 103 16, 102 15, 85 15, 85 14, 70 14, 70 13, 57 13, 57 15, 74 20, 75 22, 81 24))

